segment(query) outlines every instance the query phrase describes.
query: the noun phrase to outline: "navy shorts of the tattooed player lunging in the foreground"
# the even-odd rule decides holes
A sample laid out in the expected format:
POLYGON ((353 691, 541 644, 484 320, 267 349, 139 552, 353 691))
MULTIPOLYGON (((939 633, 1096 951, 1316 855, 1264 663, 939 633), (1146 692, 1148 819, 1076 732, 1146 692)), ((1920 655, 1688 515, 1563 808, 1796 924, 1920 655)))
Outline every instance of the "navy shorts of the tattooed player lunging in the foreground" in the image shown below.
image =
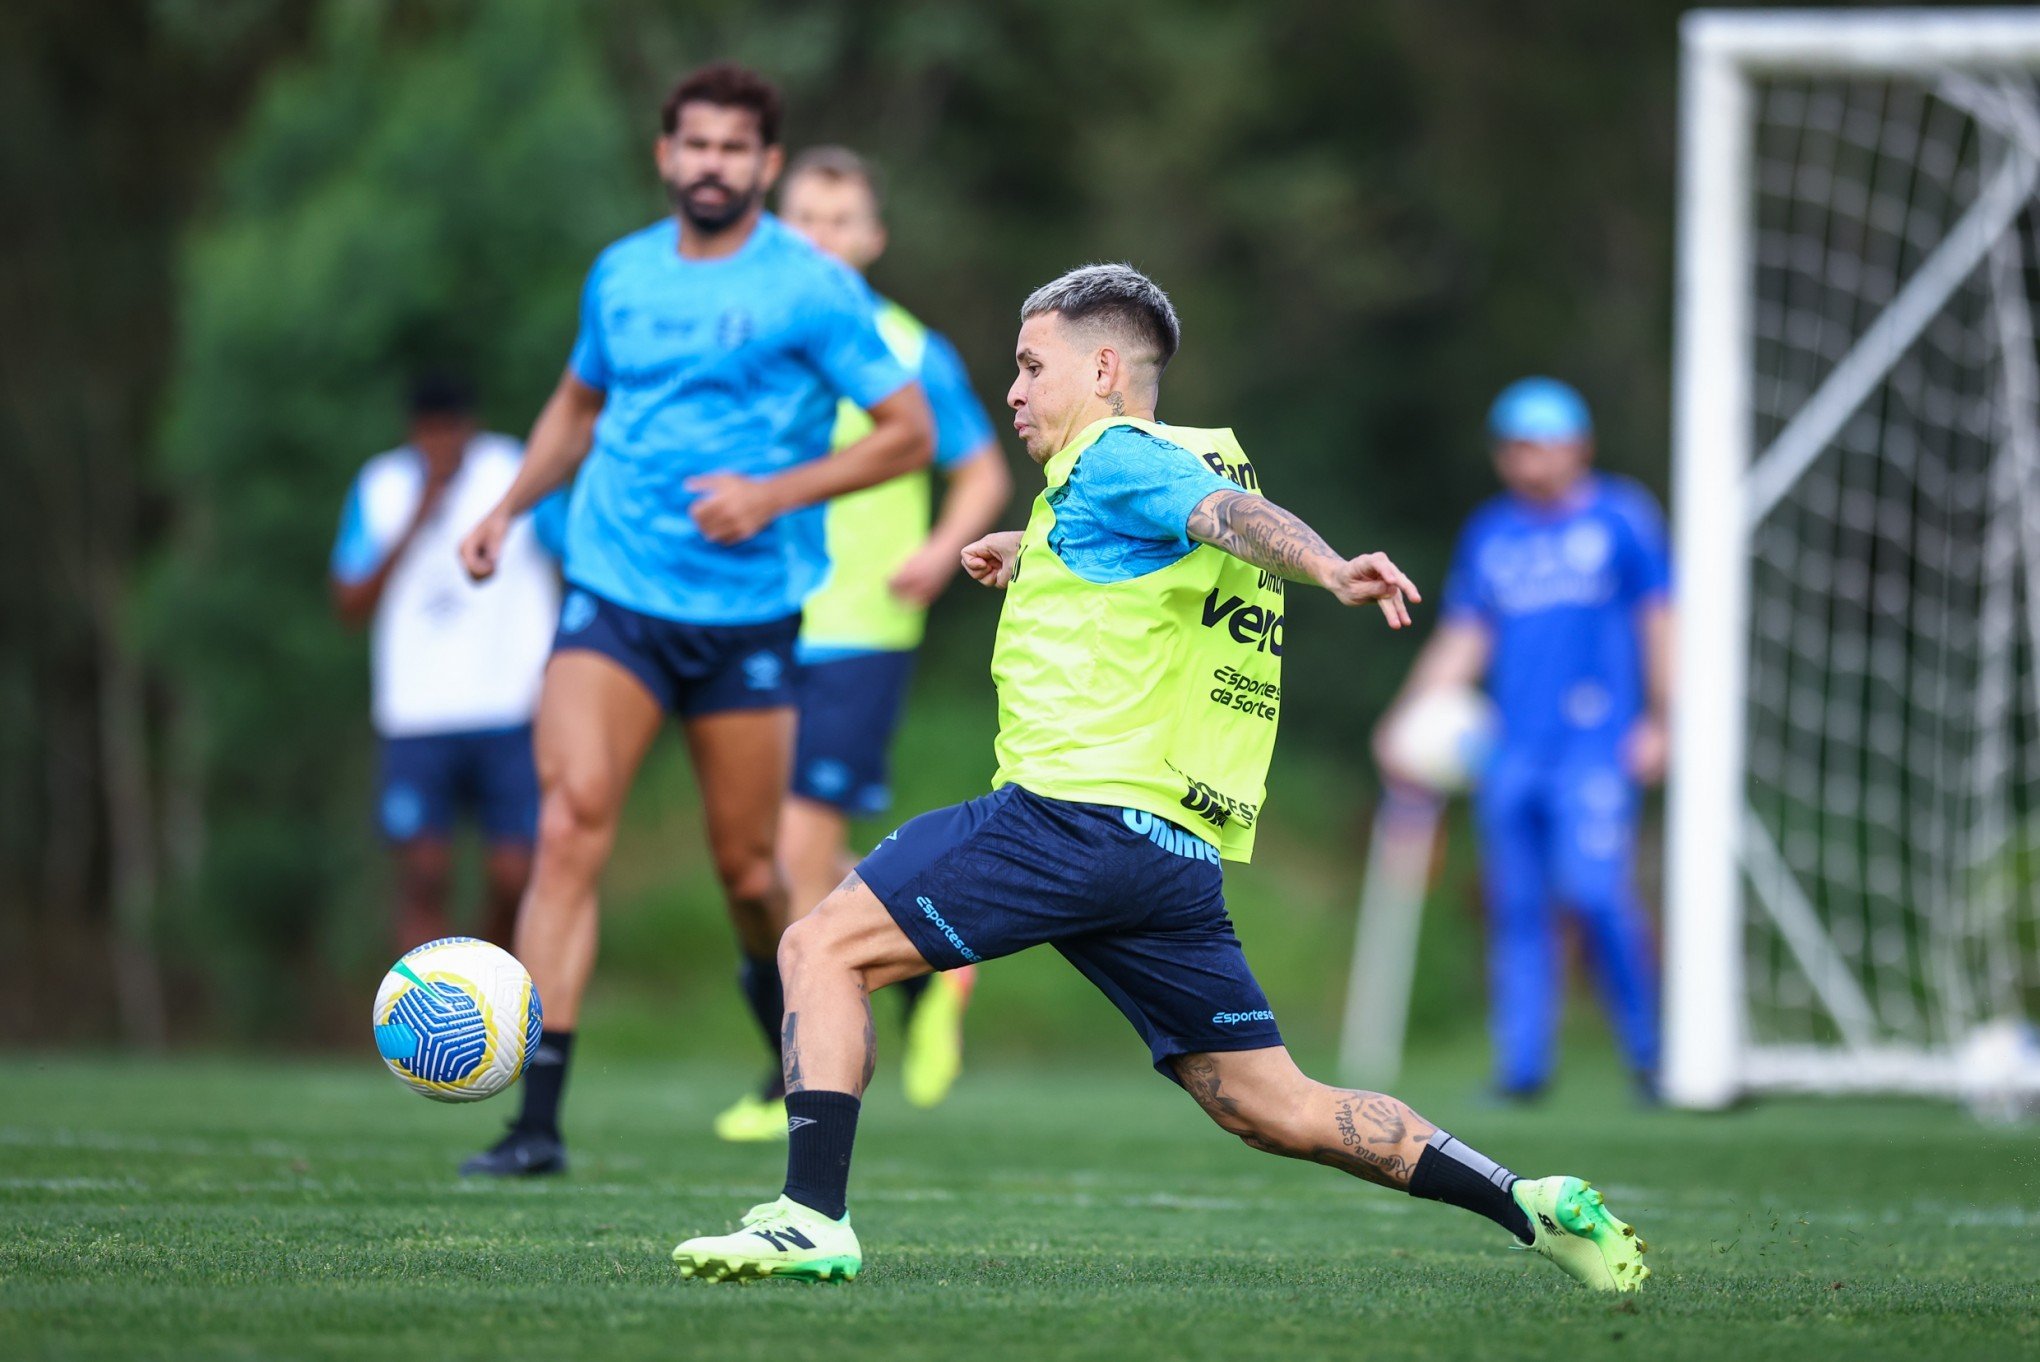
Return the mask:
POLYGON ((1218 848, 1142 809, 1006 785, 904 824, 857 875, 934 968, 1055 946, 1171 1079, 1175 1054, 1281 1044, 1218 848))

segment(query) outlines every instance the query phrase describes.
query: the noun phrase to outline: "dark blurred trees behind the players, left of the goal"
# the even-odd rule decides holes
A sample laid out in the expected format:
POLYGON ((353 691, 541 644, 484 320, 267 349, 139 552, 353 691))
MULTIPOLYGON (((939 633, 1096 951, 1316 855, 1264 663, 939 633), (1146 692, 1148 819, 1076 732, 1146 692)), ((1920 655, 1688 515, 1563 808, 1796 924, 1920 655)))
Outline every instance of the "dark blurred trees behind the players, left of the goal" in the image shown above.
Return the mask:
MULTIPOLYGON (((879 161, 875 283, 993 404, 1032 285, 1151 271, 1185 318, 1163 416, 1232 424, 1275 497, 1436 585, 1510 377, 1579 383, 1603 463, 1663 491, 1675 18, 8 6, 0 1036, 275 1034, 330 983, 371 854, 363 644, 324 604, 341 495, 400 438, 414 365, 465 367, 488 424, 526 430, 588 263, 663 212, 649 145, 677 71, 751 61, 794 147, 879 161)), ((1330 754, 1365 803, 1408 648, 1293 601, 1279 761, 1330 754)), ((940 612, 924 673, 985 687, 996 599, 940 612)), ((955 761, 965 787, 989 769, 955 761)))

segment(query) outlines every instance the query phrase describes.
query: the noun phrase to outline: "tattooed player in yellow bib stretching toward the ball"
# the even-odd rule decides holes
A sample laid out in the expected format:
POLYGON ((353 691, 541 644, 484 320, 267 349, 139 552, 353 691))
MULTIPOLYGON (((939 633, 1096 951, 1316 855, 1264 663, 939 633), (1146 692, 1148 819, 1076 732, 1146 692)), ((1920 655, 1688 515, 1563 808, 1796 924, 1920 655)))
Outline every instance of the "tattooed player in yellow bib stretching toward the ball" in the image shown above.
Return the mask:
POLYGON ((787 928, 785 1191, 673 1260, 710 1280, 857 1276, 871 993, 1053 944, 1248 1146, 1487 1215, 1579 1282, 1636 1291, 1644 1244, 1587 1183, 1518 1178, 1393 1097, 1308 1079, 1226 918, 1218 862, 1253 852, 1275 742, 1283 583, 1373 601, 1391 628, 1416 587, 1261 497, 1230 430, 1155 422, 1179 328, 1144 275, 1075 269, 1020 318, 1006 400, 1049 485, 1024 532, 963 551, 1008 591, 993 791, 908 822, 787 928))

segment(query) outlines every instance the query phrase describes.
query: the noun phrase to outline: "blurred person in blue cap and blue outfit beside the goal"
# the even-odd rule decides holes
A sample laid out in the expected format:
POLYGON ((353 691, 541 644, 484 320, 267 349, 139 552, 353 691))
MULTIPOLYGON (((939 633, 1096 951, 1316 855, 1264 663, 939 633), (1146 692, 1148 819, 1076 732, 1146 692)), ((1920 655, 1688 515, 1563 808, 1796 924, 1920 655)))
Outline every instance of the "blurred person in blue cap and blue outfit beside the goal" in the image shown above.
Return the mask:
POLYGON ((1375 730, 1412 697, 1485 687, 1495 750, 1475 793, 1489 911, 1495 1091, 1550 1083, 1563 964, 1559 918, 1579 926, 1616 1040, 1656 1089, 1656 960, 1636 899, 1642 785, 1665 773, 1671 565, 1665 518, 1640 485, 1593 471, 1593 418, 1573 387, 1510 383, 1487 416, 1503 493, 1461 532, 1436 632, 1375 730))

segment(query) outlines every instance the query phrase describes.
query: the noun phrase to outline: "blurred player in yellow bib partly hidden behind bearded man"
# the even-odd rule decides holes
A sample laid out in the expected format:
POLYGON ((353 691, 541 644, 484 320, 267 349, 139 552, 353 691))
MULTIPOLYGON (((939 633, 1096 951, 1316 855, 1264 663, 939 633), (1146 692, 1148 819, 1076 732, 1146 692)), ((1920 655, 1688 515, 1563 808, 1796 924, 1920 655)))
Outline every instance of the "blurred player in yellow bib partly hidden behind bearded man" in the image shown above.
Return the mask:
MULTIPOLYGON (((871 269, 885 251, 881 208, 873 169, 847 147, 802 151, 779 190, 785 224, 857 271, 871 269)), ((828 504, 828 577, 802 610, 800 738, 794 791, 779 818, 779 858, 796 918, 851 869, 851 818, 891 807, 887 750, 928 604, 955 575, 963 546, 998 522, 1012 495, 991 420, 955 347, 889 300, 879 300, 877 322, 894 357, 928 394, 934 467, 949 485, 932 526, 926 473, 828 504)), ((871 420, 845 402, 830 447, 845 449, 869 428, 871 420)), ((920 1107, 942 1101, 963 1064, 969 987, 969 966, 900 985, 908 1007, 902 1077, 908 1101, 920 1107)), ((745 1097, 716 1117, 716 1134, 785 1136, 779 1097, 773 1072, 763 1095, 745 1097)))

